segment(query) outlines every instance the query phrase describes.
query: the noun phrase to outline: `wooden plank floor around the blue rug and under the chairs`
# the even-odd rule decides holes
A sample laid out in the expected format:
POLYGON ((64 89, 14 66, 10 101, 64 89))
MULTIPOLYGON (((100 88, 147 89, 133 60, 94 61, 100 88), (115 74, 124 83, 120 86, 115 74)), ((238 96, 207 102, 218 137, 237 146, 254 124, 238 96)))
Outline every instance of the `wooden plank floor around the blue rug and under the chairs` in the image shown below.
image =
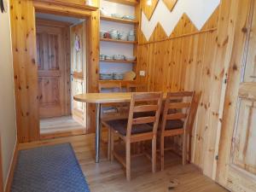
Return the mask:
MULTIPOLYGON (((131 182, 118 162, 106 159, 106 147, 102 147, 102 160, 94 159, 95 135, 57 138, 36 143, 24 143, 19 149, 34 148, 57 143, 72 143, 79 164, 84 172, 91 192, 225 192, 227 190, 203 176, 193 165, 181 165, 181 159, 166 153, 166 170, 151 172, 151 162, 146 157, 132 160, 131 182)), ((160 167, 158 167, 160 170, 160 167)))

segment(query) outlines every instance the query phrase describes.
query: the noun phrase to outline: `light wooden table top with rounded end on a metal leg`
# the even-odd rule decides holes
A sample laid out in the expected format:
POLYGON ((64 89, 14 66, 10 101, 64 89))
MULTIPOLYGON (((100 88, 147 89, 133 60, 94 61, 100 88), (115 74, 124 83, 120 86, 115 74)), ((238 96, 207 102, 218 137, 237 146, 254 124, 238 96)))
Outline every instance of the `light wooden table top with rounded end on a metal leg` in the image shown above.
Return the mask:
MULTIPOLYGON (((77 102, 88 103, 114 103, 114 102, 131 102, 131 92, 122 93, 84 93, 73 96, 77 102)), ((164 94, 164 98, 166 94, 164 94)))

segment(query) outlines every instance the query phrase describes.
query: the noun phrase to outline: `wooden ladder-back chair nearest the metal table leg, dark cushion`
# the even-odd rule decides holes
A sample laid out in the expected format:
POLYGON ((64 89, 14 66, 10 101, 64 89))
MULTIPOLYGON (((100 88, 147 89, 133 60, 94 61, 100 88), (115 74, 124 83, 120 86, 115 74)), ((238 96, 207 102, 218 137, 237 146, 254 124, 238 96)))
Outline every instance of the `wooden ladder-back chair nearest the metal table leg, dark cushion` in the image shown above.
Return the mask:
POLYGON ((131 180, 131 143, 152 140, 152 172, 156 166, 156 137, 160 117, 162 93, 133 93, 128 119, 103 122, 111 131, 111 160, 115 157, 126 168, 126 178, 131 180), (148 102, 148 104, 142 104, 148 102), (149 104, 150 103, 150 104, 149 104), (153 116, 134 118, 135 113, 154 112, 153 116), (125 142, 125 160, 113 148, 113 137, 125 142))

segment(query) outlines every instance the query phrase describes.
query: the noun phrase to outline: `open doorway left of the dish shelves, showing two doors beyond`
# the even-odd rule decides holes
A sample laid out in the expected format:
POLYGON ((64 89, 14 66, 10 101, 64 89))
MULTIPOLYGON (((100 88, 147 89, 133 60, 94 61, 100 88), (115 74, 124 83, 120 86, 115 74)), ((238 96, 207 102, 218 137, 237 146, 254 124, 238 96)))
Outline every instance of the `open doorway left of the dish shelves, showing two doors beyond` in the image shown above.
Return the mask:
POLYGON ((41 138, 86 133, 86 20, 36 13, 41 138))

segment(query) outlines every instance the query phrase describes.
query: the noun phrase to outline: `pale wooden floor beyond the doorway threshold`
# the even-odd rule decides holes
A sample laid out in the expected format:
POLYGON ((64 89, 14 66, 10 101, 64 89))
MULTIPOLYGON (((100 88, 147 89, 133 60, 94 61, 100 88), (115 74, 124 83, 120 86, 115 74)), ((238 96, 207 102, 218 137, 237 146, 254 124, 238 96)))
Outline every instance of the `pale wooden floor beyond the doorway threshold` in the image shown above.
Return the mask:
POLYGON ((83 125, 74 120, 72 116, 40 119, 40 133, 49 134, 61 131, 81 131, 83 125))

